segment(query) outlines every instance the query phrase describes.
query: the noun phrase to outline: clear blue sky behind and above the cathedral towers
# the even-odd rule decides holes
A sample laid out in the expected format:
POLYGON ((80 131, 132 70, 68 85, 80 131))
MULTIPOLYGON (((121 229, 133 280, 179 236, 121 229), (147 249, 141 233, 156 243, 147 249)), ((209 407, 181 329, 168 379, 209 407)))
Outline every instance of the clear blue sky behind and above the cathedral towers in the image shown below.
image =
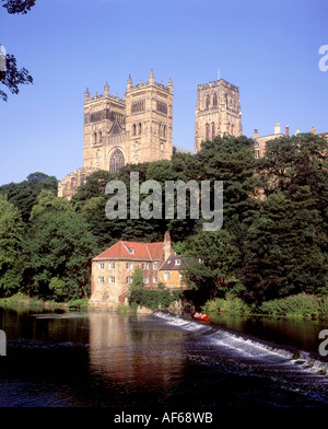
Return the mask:
POLYGON ((197 85, 220 77, 241 93, 243 132, 276 123, 328 131, 327 0, 37 0, 0 8, 0 43, 34 78, 0 101, 0 185, 82 166, 83 101, 124 96, 127 79, 174 84, 175 144, 194 149, 197 85))

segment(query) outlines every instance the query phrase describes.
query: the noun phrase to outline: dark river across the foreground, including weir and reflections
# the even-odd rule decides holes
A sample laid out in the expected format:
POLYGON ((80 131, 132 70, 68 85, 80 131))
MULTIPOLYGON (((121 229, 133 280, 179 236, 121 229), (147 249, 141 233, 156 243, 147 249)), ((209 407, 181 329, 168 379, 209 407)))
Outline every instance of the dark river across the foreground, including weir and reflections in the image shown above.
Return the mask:
POLYGON ((328 379, 316 374, 324 325, 212 321, 0 309, 0 406, 327 407, 328 379))

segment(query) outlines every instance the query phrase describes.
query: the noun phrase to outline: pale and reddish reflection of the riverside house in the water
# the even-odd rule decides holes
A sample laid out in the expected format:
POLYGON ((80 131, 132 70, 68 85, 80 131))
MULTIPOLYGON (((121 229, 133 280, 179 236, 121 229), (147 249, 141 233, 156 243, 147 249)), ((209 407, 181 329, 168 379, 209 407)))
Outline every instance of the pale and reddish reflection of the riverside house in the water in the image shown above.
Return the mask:
POLYGON ((157 390, 172 386, 172 376, 183 371, 181 333, 150 328, 149 315, 120 316, 90 312, 90 366, 117 389, 157 390), (174 351, 171 350, 174 348, 174 351), (180 352, 179 352, 180 351, 180 352))

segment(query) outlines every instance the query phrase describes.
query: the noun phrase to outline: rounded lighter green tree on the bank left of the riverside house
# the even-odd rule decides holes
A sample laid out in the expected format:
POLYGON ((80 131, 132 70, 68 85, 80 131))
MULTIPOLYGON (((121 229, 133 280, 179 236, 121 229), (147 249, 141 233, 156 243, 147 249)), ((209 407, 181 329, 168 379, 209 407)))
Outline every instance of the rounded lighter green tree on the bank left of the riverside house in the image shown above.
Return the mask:
POLYGON ((31 213, 25 244, 25 288, 32 295, 63 301, 90 293, 95 237, 70 202, 43 190, 31 213))

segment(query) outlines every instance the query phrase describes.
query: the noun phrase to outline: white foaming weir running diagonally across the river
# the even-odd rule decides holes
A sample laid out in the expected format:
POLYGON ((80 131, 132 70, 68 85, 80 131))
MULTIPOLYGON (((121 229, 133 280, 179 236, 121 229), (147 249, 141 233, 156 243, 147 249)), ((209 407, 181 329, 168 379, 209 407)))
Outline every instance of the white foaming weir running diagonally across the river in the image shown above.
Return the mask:
POLYGON ((200 334, 213 345, 222 346, 236 357, 259 360, 278 364, 292 364, 306 372, 318 375, 328 375, 328 362, 320 355, 301 350, 294 346, 278 345, 213 324, 203 324, 194 320, 157 311, 155 316, 176 327, 200 334))

